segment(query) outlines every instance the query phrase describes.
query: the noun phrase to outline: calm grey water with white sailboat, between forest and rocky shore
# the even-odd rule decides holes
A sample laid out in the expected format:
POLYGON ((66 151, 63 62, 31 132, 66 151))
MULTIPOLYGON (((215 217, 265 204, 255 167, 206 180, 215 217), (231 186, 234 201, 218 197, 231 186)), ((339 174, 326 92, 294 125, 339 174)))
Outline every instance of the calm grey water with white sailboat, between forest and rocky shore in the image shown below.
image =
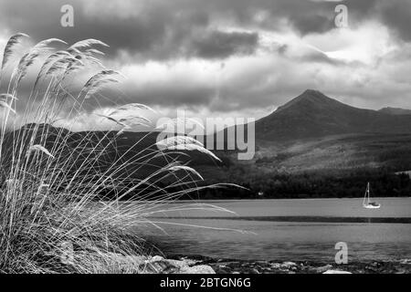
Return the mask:
MULTIPOLYGON (((196 209, 156 214, 152 220, 163 231, 142 232, 165 254, 331 262, 334 245, 345 242, 352 261, 411 258, 411 198, 375 201, 381 209, 364 209, 362 199, 206 201, 236 214, 196 209)), ((193 202, 170 207, 188 203, 193 202)))

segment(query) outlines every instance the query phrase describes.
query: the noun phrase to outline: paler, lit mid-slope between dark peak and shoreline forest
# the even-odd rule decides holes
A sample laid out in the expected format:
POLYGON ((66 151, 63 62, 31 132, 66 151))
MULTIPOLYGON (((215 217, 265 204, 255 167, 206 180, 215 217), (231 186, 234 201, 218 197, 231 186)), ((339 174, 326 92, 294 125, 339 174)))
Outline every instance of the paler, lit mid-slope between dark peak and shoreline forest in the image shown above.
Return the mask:
POLYGON ((411 134, 346 134, 260 145, 256 165, 287 172, 411 167, 411 134))

